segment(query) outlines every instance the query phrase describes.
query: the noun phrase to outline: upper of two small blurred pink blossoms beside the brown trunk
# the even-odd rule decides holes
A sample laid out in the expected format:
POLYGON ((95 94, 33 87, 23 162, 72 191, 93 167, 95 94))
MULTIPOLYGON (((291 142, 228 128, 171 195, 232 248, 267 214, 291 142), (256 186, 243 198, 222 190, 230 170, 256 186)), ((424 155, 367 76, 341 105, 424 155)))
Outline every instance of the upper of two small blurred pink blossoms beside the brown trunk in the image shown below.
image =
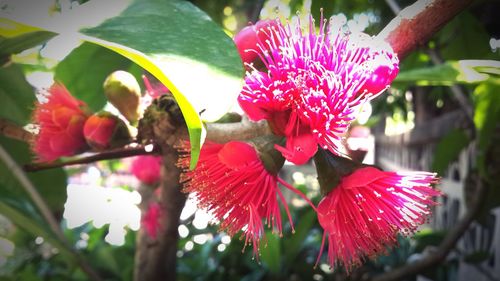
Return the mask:
POLYGON ((141 182, 154 185, 160 181, 161 157, 141 155, 134 158, 130 172, 141 182))

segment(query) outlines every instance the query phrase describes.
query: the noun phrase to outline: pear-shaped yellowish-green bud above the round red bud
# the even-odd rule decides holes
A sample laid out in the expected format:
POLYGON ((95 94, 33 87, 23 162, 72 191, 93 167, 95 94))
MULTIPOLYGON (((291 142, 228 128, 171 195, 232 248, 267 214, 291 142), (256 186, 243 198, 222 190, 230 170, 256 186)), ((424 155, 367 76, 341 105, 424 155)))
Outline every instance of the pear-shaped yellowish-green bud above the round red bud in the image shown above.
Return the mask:
POLYGON ((137 123, 141 116, 141 88, 132 74, 123 70, 111 73, 104 81, 104 94, 130 124, 137 123))

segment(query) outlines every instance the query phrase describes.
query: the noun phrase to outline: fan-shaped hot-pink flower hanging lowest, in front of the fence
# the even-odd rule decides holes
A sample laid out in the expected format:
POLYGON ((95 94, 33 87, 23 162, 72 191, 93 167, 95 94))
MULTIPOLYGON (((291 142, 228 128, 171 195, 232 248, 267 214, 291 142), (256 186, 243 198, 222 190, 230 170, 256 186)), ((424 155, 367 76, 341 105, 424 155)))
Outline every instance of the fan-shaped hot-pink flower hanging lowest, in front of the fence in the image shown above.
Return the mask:
POLYGON ((410 235, 423 224, 436 203, 432 189, 438 180, 427 172, 384 172, 373 167, 356 170, 318 205, 320 225, 328 237, 328 261, 347 271, 364 257, 375 257, 397 243, 396 234, 410 235))

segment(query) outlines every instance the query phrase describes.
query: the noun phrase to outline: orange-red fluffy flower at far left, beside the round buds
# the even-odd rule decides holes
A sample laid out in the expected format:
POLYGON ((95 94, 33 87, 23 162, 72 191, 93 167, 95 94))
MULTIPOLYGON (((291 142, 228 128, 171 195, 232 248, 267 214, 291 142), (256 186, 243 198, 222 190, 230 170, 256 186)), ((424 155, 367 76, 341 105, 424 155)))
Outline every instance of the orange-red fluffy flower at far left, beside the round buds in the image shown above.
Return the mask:
POLYGON ((87 114, 82 107, 85 103, 72 97, 62 84, 48 89, 47 102, 37 103, 33 112, 33 122, 40 126, 32 144, 38 161, 51 162, 87 147, 83 137, 87 114))

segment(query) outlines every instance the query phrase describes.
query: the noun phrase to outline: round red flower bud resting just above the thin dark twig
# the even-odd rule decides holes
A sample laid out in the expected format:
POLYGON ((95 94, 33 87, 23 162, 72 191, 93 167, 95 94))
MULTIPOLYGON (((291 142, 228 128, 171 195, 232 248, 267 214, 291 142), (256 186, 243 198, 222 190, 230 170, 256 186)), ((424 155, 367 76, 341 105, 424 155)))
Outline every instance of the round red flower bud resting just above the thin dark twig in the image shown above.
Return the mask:
POLYGON ((106 111, 96 113, 87 119, 83 135, 87 143, 97 150, 122 146, 130 141, 127 125, 106 111))

